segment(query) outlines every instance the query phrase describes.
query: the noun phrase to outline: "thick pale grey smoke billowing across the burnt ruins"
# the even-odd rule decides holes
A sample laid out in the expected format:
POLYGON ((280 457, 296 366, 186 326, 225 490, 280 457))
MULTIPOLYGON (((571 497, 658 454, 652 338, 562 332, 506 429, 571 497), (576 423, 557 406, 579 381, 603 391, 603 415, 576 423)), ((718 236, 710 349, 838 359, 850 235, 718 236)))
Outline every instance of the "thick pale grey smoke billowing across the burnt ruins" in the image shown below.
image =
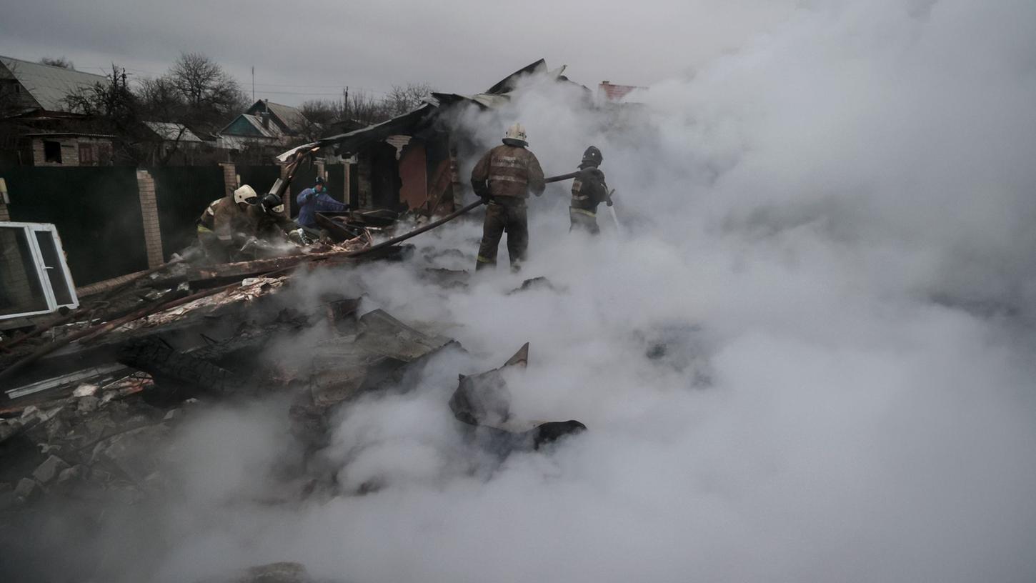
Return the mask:
MULTIPOLYGON (((487 146, 521 119, 548 174, 599 145, 636 230, 568 234, 552 187, 530 202, 520 276, 452 292, 415 265, 313 278, 294 293, 366 292, 365 308, 450 323, 469 351, 336 420, 322 463, 345 488, 384 488, 251 503, 290 458, 284 404, 212 411, 179 438, 181 493, 111 529, 113 545, 153 542, 113 571, 1032 581, 1033 22, 1023 1, 815 2, 643 92, 645 124, 608 127, 537 80, 508 111, 469 113, 487 146), (505 295, 540 274, 559 291, 505 295), (516 409, 589 431, 495 464, 463 442, 447 399, 458 373, 526 341, 516 409), (666 354, 648 358, 659 341, 666 354)), ((416 241, 470 256, 479 232, 416 241)))

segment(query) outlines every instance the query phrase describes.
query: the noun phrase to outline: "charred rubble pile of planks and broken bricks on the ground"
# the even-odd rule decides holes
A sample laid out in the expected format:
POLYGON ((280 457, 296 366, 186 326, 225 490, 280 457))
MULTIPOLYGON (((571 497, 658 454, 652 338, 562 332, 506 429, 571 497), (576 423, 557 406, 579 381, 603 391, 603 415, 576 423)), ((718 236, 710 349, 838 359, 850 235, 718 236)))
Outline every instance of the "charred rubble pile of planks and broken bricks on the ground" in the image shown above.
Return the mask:
MULTIPOLYGON (((386 246, 363 260, 400 257, 413 259, 425 282, 468 286, 471 273, 451 268, 472 263, 458 250, 386 246)), ((168 499, 177 478, 163 464, 175 454, 178 429, 213 404, 267 396, 284 407, 291 450, 300 456, 274 477, 277 493, 242 503, 381 488, 377 479, 339 484, 337 469, 320 463, 334 419, 364 395, 407 390, 413 383, 405 379, 420 378, 436 355, 464 349, 441 328, 403 322, 363 297, 323 293, 314 300, 298 286, 296 275, 313 269, 349 278, 356 261, 330 251, 219 266, 174 262, 95 288, 76 313, 0 345, 0 535, 17 538, 11 525, 42 508, 70 504, 87 524, 100 525, 112 504, 168 499)), ((541 280, 515 292, 553 289, 541 280)), ((586 429, 510 413, 501 370, 527 359, 526 344, 501 369, 461 376, 449 403, 461 434, 500 458, 586 429)), ((296 563, 229 577, 311 580, 296 563)))

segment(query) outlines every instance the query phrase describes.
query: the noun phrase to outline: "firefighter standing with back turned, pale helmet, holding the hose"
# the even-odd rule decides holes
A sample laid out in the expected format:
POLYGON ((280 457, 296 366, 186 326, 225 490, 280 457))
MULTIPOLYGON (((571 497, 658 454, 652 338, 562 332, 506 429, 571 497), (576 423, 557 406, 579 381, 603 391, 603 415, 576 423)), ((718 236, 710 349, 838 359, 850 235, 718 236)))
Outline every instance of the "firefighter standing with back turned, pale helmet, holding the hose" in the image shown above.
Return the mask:
POLYGON ((546 183, 540 161, 526 147, 525 128, 515 123, 508 128, 503 145, 482 156, 471 170, 471 187, 489 206, 482 227, 482 244, 476 269, 496 265, 496 247, 505 232, 511 270, 517 271, 528 247, 525 199, 529 192, 543 195, 546 183))

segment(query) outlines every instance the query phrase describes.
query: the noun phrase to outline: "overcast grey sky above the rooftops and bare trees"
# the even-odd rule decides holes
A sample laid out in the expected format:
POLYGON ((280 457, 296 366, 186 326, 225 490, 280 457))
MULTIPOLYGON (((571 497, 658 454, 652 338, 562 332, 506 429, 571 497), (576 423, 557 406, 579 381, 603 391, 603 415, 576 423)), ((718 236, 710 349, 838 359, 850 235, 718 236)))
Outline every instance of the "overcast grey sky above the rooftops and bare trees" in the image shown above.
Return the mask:
POLYGON ((345 86, 383 92, 408 82, 470 93, 541 57, 551 67, 569 65, 569 77, 587 86, 650 85, 737 50, 795 4, 15 0, 0 19, 0 55, 64 56, 91 72, 115 62, 153 77, 181 51, 197 51, 247 92, 254 65, 256 96, 285 104, 334 98, 345 86))

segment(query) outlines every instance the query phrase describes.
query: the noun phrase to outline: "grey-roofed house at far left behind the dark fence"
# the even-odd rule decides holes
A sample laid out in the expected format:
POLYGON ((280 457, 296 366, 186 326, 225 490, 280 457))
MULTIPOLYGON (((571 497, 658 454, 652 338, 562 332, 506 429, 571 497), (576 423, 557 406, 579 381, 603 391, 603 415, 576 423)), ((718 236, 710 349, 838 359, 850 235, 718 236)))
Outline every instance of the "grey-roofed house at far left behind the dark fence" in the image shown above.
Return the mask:
POLYGON ((104 76, 0 56, 0 161, 24 166, 112 164, 114 137, 65 97, 104 76))

